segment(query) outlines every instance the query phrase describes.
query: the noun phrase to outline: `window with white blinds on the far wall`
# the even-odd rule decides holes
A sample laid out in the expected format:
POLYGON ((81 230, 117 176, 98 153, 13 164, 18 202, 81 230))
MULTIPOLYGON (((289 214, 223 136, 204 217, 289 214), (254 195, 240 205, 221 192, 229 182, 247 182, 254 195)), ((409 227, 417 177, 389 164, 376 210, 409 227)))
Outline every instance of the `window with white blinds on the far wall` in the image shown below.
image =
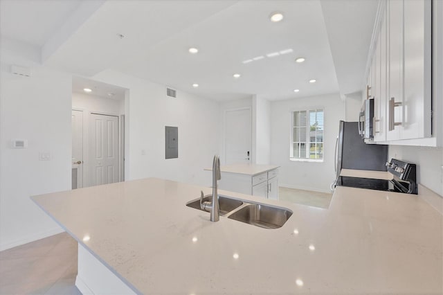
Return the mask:
POLYGON ((323 109, 293 111, 291 159, 323 161, 323 109))

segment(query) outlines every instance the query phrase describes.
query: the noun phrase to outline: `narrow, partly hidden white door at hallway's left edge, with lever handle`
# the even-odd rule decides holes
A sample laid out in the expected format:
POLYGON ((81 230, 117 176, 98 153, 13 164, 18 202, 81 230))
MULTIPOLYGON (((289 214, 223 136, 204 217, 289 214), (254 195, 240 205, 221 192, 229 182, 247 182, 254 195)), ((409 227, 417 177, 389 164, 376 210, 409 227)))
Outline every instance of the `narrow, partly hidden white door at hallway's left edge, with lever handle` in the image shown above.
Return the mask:
POLYGON ((72 189, 83 187, 83 111, 72 111, 72 189))

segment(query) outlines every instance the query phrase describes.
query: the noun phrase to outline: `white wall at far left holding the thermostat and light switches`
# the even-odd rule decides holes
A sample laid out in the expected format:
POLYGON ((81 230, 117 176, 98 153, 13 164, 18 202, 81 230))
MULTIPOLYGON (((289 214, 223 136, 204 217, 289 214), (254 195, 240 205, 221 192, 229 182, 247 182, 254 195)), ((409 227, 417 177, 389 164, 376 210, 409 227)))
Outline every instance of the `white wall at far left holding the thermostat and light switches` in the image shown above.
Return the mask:
POLYGON ((1 40, 0 250, 62 231, 31 195, 71 188, 71 75, 39 66, 36 48, 1 40), (30 78, 9 73, 29 66, 30 78), (13 138, 26 149, 12 149, 13 138), (39 153, 51 154, 39 161, 39 153))

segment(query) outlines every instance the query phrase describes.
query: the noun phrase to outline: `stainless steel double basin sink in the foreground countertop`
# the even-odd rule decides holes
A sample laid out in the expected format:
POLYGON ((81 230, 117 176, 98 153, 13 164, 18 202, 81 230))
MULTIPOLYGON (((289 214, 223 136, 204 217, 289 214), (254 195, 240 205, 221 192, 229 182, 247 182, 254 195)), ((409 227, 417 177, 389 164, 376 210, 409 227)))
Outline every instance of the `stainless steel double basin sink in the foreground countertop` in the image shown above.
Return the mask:
MULTIPOLYGON (((210 202, 211 198, 212 196, 210 195, 206 196, 204 202, 210 202)), ((186 206, 201 210, 200 199, 192 200, 188 202, 186 206)), ((292 215, 292 211, 286 208, 249 201, 244 202, 223 195, 219 195, 219 210, 221 216, 259 226, 264 229, 278 229, 282 227, 292 215)))

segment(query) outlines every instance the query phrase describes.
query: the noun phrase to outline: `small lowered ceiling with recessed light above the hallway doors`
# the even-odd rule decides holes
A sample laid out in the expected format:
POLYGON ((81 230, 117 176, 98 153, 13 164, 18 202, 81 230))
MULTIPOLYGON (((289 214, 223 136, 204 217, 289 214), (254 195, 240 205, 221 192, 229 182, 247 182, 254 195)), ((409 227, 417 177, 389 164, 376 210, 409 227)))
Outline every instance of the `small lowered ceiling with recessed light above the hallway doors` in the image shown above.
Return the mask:
POLYGON ((72 78, 72 91, 75 93, 82 93, 84 95, 99 96, 101 98, 109 98, 114 100, 125 99, 126 89, 111 84, 106 84, 98 81, 94 81, 87 78, 73 76, 72 78), (92 92, 84 92, 83 89, 89 88, 92 92))

